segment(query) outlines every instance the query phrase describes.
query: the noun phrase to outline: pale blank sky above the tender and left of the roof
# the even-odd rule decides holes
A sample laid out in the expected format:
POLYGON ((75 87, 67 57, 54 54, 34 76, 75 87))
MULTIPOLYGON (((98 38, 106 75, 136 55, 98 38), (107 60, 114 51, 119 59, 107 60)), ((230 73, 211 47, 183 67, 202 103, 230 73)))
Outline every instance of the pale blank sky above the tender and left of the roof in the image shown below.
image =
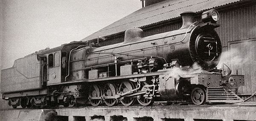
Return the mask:
POLYGON ((1 68, 81 39, 141 8, 140 0, 1 0, 1 68))

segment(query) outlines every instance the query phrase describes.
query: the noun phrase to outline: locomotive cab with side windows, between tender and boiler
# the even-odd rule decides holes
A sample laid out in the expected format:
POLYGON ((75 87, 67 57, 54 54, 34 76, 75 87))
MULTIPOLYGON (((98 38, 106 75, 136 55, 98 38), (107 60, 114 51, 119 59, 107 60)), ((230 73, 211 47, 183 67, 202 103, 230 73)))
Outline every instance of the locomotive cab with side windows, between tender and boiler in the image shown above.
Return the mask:
POLYGON ((47 79, 47 84, 57 84, 65 81, 68 75, 68 58, 72 49, 79 45, 85 45, 86 42, 70 42, 56 48, 47 49, 41 52, 46 56, 45 65, 43 65, 44 79, 47 79))

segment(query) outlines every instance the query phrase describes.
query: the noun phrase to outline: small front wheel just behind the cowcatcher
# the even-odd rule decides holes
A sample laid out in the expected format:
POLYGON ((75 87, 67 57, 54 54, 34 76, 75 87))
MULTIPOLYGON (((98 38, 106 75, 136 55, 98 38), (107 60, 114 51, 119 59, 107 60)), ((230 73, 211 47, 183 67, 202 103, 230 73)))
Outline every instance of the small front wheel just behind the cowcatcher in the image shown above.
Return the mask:
POLYGON ((195 87, 191 92, 191 100, 195 105, 204 104, 206 101, 206 91, 201 87, 195 87))

